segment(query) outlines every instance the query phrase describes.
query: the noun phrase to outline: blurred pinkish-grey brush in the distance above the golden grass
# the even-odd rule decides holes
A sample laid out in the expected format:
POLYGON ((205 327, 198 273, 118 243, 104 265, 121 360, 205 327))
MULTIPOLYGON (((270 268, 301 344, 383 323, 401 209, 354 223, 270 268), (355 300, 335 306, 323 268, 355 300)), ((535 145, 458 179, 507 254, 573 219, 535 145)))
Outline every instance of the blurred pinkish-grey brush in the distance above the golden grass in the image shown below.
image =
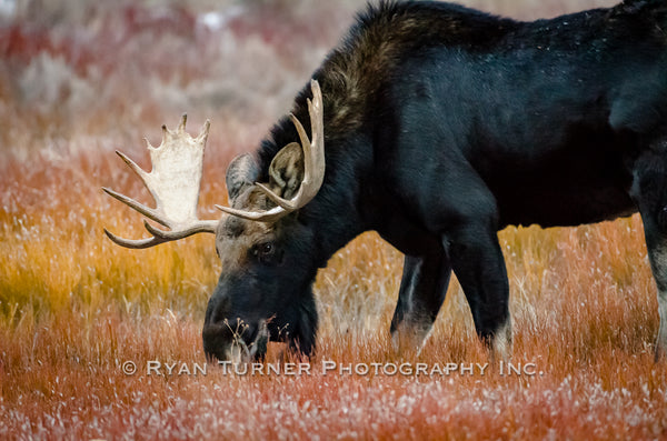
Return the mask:
MULTIPOLYGON (((0 167, 142 133, 188 112, 237 151, 289 110, 365 0, 0 0, 0 167), (101 139, 100 137, 106 137, 101 139)), ((518 19, 613 0, 471 0, 518 19)))

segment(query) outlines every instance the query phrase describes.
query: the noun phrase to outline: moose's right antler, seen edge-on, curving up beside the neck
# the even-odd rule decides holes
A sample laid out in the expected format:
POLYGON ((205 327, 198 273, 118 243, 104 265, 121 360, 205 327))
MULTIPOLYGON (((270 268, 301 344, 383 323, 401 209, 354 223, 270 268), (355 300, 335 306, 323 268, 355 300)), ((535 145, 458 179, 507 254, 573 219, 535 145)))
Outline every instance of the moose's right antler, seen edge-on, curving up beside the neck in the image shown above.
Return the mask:
POLYGON ((271 222, 302 208, 316 197, 325 180, 325 123, 322 93, 317 80, 310 81, 310 88, 312 90, 312 101, 308 100, 308 113, 310 116, 312 140, 308 139, 301 122, 293 114, 290 114, 301 141, 301 149, 303 149, 303 180, 297 194, 291 199, 283 199, 265 184, 257 182, 257 188, 273 201, 278 206, 277 208, 266 212, 236 210, 220 206, 216 206, 216 208, 243 219, 271 222))

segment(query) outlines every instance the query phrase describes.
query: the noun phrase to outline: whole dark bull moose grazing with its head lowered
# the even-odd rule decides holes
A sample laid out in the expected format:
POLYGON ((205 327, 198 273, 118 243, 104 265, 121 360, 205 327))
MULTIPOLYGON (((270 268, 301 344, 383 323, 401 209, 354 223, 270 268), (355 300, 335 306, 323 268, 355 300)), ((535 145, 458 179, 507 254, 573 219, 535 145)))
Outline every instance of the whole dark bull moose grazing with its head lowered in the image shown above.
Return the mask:
POLYGON ((157 208, 104 189, 168 230, 107 234, 147 248, 215 233, 210 358, 262 358, 269 340, 310 354, 316 273, 367 230, 405 254, 394 339, 420 347, 454 270, 477 334, 508 357, 498 230, 636 211, 658 287, 656 358, 667 350, 666 1, 531 22, 437 1, 369 6, 291 114, 229 166, 219 220, 196 213, 209 124, 195 139, 185 124, 163 127, 150 173, 119 152, 157 208))

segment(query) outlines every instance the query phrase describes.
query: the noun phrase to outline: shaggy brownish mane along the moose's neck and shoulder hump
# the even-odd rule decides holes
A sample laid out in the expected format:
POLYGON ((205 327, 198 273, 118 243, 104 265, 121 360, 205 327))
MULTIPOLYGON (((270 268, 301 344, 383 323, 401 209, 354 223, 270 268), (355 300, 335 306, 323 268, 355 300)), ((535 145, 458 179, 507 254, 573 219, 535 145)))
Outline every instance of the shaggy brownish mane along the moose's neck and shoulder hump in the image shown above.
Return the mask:
MULTIPOLYGON (((438 8, 438 4, 431 4, 438 8)), ((410 52, 434 44, 461 46, 480 50, 494 44, 515 28, 511 20, 498 20, 484 12, 448 7, 446 16, 420 8, 419 3, 381 2, 360 14, 349 37, 335 49, 315 73, 325 94, 327 136, 348 133, 364 122, 397 63, 410 52), (454 10, 455 13, 451 13, 454 10), (492 32, 487 21, 495 23, 492 32), (479 30, 485 26, 484 32, 479 30)))

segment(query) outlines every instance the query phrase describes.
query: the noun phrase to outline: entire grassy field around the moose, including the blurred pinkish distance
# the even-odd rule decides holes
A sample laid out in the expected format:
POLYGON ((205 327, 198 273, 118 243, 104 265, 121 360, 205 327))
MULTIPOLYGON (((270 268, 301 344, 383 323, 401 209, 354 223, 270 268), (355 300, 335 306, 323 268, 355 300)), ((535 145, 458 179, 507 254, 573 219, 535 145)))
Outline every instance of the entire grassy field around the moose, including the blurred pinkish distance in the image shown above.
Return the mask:
MULTIPOLYGON (((113 150, 146 167, 143 136, 159 142, 183 111, 192 132, 210 118, 200 207, 217 216, 229 161, 289 109, 361 2, 31 4, 0 16, 0 439, 667 438, 637 216, 500 232, 519 373, 481 372, 488 360, 456 281, 421 354, 396 353, 402 257, 375 233, 318 274, 309 372, 205 367, 200 331, 220 270, 212 238, 145 251, 107 240, 103 227, 143 232, 100 187, 148 200, 113 150), (382 368, 364 373, 372 363, 382 368), (449 363, 472 374, 417 372, 449 363)), ((528 19, 604 3, 468 4, 528 19)), ((271 343, 268 362, 285 360, 271 343)))

